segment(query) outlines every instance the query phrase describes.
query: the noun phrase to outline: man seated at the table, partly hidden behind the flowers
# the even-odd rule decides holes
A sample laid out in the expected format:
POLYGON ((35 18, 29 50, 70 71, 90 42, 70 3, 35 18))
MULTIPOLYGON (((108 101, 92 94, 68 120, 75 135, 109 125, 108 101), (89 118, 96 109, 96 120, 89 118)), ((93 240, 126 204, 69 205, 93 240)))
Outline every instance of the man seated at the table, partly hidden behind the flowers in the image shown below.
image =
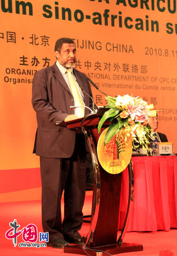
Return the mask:
POLYGON ((156 130, 158 129, 158 117, 157 116, 149 117, 149 125, 150 125, 150 128, 152 129, 152 132, 151 132, 150 138, 149 138, 150 142, 154 141, 155 139, 158 142, 168 142, 165 134, 156 132, 156 130))

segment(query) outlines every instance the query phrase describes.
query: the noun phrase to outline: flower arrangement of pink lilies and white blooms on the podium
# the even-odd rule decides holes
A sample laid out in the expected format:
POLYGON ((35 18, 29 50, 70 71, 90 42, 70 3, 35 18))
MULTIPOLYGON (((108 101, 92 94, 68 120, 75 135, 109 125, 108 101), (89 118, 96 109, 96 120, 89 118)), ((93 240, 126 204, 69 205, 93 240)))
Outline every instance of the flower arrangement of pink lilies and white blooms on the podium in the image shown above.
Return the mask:
POLYGON ((126 131, 125 140, 127 136, 131 136, 133 148, 137 148, 139 144, 142 148, 148 148, 148 136, 151 130, 148 128, 148 116, 153 104, 148 105, 146 101, 139 97, 132 97, 129 95, 106 97, 108 104, 106 108, 108 111, 100 119, 98 124, 98 132, 104 124, 105 120, 109 120, 110 126, 104 138, 104 145, 106 145, 112 137, 120 131, 126 131), (136 142, 136 143, 135 143, 136 142), (138 145, 136 145, 138 144, 138 145))

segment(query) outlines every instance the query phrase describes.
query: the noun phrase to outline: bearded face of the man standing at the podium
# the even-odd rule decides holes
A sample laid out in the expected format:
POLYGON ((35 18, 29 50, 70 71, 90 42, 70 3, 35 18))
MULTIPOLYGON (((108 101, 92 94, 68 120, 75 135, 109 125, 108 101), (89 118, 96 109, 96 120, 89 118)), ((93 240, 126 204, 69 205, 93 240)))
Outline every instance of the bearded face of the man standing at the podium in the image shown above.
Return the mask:
POLYGON ((55 55, 59 64, 65 68, 71 68, 76 63, 76 45, 75 44, 63 44, 61 52, 55 51, 55 55))

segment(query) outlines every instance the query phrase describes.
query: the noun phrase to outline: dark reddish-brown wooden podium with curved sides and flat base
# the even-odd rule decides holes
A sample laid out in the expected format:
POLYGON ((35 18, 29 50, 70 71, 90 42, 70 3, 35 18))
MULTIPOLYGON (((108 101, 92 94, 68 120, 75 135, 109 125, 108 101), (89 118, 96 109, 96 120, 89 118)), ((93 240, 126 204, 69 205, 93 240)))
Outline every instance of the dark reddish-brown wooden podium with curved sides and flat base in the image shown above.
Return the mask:
MULTIPOLYGON (((117 235, 122 172, 119 174, 110 174, 106 172, 99 164, 96 151, 100 137, 97 125, 104 112, 104 107, 100 107, 96 114, 89 114, 87 117, 68 122, 56 122, 56 125, 65 126, 69 129, 81 127, 89 145, 94 170, 91 223, 89 232, 85 237, 85 245, 64 247, 64 252, 66 253, 82 255, 88 255, 87 253, 89 253, 91 256, 104 256, 104 252, 118 254, 123 252, 142 251, 143 249, 142 244, 123 242, 133 203, 134 180, 131 162, 128 165, 129 199, 127 213, 123 229, 121 230, 120 235, 117 235), (101 252, 103 254, 101 254, 101 252)), ((105 123, 102 130, 104 130, 105 126, 108 126, 108 124, 105 123)))

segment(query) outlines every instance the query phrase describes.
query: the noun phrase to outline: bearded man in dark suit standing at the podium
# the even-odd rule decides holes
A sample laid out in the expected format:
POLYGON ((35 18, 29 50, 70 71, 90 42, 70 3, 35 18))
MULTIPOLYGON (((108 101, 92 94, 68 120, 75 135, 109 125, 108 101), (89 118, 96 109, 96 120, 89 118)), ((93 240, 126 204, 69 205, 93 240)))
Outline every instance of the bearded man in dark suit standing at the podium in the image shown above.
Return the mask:
MULTIPOLYGON (((56 63, 35 73, 33 80, 32 104, 38 123, 34 153, 40 156, 42 227, 44 232, 49 232, 47 246, 63 248, 69 243, 81 244, 83 241, 78 230, 81 229, 83 219, 86 150, 81 130, 56 126, 55 121, 81 117, 79 111, 70 109, 78 98, 82 105, 91 106, 90 98, 83 95, 77 81, 89 95, 92 96, 92 92, 86 76, 73 68, 76 63, 76 45, 73 40, 57 40, 55 56, 56 63), (68 72, 77 91, 78 96, 75 98, 68 72), (62 222, 63 191, 65 208, 62 222)), ((82 115, 88 113, 89 109, 85 108, 82 115)))

